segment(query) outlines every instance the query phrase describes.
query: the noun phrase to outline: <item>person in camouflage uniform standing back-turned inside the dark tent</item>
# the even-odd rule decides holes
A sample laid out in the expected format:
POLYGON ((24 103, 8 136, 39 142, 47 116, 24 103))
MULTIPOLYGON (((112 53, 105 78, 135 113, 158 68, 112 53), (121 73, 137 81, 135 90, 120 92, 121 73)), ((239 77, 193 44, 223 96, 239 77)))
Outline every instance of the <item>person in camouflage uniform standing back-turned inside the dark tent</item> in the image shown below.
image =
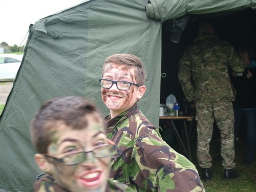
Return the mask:
POLYGON ((211 179, 209 168, 211 156, 209 144, 214 119, 221 134, 221 156, 224 179, 239 177, 233 170, 234 163, 234 94, 229 79, 228 67, 234 72, 243 72, 243 63, 233 47, 221 41, 209 23, 199 26, 199 36, 189 46, 181 60, 178 78, 188 101, 196 103, 197 158, 205 181, 211 179), (190 77, 192 76, 192 79, 190 77))

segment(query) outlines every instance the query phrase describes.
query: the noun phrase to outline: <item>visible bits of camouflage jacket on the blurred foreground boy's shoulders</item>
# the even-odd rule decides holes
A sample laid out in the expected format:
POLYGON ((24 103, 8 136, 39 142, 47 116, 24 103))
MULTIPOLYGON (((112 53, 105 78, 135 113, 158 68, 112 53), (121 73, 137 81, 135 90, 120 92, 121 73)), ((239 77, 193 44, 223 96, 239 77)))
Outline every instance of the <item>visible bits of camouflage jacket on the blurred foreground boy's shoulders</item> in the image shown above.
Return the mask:
MULTIPOLYGON (((41 179, 35 182, 33 185, 34 192, 69 192, 67 189, 59 186, 51 175, 45 175, 41 179)), ((108 179, 108 186, 105 192, 134 192, 133 188, 124 185, 118 181, 108 179)))

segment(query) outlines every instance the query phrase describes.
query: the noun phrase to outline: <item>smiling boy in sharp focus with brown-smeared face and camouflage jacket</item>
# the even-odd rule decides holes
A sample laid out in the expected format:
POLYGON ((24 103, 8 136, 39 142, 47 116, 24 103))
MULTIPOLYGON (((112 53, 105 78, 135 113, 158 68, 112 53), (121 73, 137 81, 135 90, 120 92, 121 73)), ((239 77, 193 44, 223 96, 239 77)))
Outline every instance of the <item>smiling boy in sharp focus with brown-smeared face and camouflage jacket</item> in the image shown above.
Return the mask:
POLYGON ((145 93, 146 73, 132 54, 106 58, 100 81, 108 139, 117 148, 111 155, 110 178, 137 191, 205 191, 193 163, 174 151, 138 109, 145 93))

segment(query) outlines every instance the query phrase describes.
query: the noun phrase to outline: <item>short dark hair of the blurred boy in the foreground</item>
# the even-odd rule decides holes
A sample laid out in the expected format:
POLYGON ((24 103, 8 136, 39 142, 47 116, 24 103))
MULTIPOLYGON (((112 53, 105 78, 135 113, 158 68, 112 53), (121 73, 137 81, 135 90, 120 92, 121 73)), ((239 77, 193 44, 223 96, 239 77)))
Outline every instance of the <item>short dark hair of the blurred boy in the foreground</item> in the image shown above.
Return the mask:
POLYGON ((83 97, 58 97, 45 102, 30 124, 33 146, 38 153, 47 153, 47 148, 52 142, 51 130, 57 129, 59 124, 82 130, 88 125, 86 116, 89 114, 95 115, 96 122, 100 122, 100 119, 103 121, 95 104, 83 97))

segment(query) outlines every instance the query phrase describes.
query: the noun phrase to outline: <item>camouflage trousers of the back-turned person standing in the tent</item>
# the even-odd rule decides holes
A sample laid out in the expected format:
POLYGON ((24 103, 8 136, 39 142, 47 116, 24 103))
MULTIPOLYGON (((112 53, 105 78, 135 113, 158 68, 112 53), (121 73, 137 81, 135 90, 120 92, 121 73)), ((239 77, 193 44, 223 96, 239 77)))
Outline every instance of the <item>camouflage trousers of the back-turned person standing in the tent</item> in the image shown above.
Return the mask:
POLYGON ((221 134, 222 166, 234 168, 234 114, 231 102, 197 102, 197 159, 199 166, 210 168, 211 156, 209 144, 212 136, 214 119, 221 134))

